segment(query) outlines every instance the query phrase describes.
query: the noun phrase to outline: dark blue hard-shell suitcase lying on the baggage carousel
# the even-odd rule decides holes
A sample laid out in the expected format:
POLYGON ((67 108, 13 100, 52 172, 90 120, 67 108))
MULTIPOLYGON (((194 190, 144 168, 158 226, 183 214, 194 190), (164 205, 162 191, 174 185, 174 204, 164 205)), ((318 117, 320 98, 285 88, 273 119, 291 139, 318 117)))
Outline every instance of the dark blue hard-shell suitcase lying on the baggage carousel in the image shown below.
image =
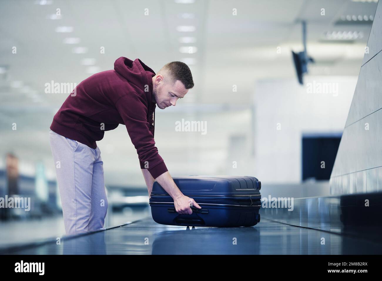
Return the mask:
POLYGON ((260 222, 261 182, 255 177, 188 176, 173 177, 180 191, 193 198, 201 209, 191 207, 192 214, 179 214, 174 201, 158 182, 150 198, 155 222, 175 226, 254 226, 260 222))

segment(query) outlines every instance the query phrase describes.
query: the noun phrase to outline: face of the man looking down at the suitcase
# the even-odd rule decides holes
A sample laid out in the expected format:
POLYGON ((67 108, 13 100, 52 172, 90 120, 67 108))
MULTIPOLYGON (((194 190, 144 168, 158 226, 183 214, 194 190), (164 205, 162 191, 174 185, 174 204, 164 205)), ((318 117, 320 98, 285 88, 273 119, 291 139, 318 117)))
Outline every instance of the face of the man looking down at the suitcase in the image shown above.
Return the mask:
POLYGON ((165 109, 169 106, 175 106, 176 101, 187 94, 188 89, 185 88, 180 80, 172 81, 163 80, 162 75, 157 75, 154 82, 154 98, 157 106, 160 109, 165 109))

